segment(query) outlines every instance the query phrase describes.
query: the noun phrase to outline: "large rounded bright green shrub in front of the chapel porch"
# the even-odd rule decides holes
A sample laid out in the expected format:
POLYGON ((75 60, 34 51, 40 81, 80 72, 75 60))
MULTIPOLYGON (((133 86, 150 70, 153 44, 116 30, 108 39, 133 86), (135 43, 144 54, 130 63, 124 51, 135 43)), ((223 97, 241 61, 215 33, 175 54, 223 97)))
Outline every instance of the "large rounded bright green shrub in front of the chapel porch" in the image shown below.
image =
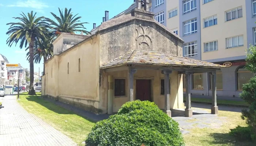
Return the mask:
POLYGON ((150 101, 125 103, 116 115, 99 121, 86 146, 183 146, 178 123, 150 101))

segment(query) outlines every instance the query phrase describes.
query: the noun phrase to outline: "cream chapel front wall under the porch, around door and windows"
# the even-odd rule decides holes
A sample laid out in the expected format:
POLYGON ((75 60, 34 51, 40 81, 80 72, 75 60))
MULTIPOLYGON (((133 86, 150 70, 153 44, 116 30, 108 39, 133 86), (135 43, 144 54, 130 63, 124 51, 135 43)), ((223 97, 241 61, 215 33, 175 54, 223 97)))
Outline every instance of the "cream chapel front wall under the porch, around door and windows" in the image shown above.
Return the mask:
MULTIPOLYGON (((128 95, 128 80, 127 75, 128 71, 120 71, 120 72, 110 72, 109 76, 113 76, 113 78, 124 78, 126 84, 126 96, 124 97, 113 97, 113 112, 117 112, 121 106, 129 101, 128 95)), ((164 95, 161 95, 161 79, 164 78, 164 74, 161 74, 159 70, 138 70, 137 73, 134 74, 133 80, 133 95, 136 100, 136 80, 139 79, 149 79, 151 80, 151 99, 158 105, 159 108, 164 108, 164 95)), ((170 108, 184 108, 183 106, 183 94, 182 94, 182 80, 181 76, 178 75, 177 72, 173 72, 170 74, 170 108), (181 82, 181 84, 178 84, 181 82), (178 91, 179 89, 179 91, 178 91), (182 107, 183 106, 183 107, 182 107)))

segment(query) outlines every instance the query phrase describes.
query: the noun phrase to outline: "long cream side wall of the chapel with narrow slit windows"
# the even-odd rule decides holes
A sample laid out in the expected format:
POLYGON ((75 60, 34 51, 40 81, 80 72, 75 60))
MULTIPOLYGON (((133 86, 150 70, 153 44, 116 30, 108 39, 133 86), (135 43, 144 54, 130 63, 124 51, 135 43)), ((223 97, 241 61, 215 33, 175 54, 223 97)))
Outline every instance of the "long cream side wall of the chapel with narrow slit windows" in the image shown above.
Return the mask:
MULTIPOLYGON (((99 36, 98 36, 99 37, 99 36)), ((97 36, 45 64, 45 95, 85 110, 99 108, 99 41, 97 36), (80 58, 80 72, 79 72, 80 58), (69 65, 68 65, 69 64, 69 65)))

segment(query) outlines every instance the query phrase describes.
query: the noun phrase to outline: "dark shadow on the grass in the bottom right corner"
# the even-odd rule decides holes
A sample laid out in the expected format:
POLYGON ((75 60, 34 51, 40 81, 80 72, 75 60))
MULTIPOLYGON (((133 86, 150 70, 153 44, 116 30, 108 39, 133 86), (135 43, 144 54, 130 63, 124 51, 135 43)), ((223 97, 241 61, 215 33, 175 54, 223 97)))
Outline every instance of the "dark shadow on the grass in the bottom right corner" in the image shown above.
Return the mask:
POLYGON ((229 133, 212 133, 211 137, 214 138, 213 141, 208 141, 210 145, 231 145, 231 146, 255 146, 256 144, 249 141, 237 141, 234 137, 229 135, 229 133))

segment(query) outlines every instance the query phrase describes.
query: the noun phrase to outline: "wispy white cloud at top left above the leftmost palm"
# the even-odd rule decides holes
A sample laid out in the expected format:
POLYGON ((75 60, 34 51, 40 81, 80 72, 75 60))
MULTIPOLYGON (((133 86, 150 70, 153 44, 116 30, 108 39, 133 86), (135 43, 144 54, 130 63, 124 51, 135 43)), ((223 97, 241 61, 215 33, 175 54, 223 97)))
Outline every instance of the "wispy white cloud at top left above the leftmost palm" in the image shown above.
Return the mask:
POLYGON ((35 9, 44 9, 49 6, 46 3, 43 3, 39 0, 19 0, 14 4, 7 5, 7 7, 26 7, 26 8, 35 8, 35 9))

